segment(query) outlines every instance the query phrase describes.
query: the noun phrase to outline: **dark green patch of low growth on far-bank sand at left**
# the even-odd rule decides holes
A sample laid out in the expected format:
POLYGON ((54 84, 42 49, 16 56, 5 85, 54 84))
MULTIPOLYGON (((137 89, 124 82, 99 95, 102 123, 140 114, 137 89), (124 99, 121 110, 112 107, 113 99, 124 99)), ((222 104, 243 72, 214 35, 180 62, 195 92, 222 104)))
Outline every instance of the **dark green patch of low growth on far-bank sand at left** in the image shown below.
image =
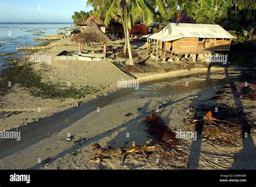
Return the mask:
POLYGON ((3 70, 0 79, 0 95, 5 95, 16 84, 29 90, 32 96, 43 99, 82 98, 87 94, 98 91, 96 88, 87 85, 84 88, 76 89, 52 82, 44 83, 42 82, 42 76, 33 71, 31 64, 12 62, 9 68, 3 70))

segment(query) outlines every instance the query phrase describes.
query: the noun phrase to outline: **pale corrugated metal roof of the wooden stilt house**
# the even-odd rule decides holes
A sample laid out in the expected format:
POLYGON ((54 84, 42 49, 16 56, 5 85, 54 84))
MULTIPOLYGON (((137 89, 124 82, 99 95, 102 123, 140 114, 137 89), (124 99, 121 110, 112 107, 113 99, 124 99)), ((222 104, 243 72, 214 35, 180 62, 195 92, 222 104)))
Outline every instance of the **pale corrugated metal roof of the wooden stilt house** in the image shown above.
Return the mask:
POLYGON ((161 41, 171 41, 180 38, 235 38, 220 25, 187 23, 170 23, 160 32, 144 37, 161 41))

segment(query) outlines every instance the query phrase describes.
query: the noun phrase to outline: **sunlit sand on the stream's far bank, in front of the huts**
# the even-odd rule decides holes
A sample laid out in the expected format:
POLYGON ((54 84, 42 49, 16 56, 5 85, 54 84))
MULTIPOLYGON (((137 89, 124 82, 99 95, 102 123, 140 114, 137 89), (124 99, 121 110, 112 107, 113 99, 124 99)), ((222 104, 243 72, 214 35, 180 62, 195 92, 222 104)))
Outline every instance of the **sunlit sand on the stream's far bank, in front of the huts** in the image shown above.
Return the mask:
MULTIPOLYGON (((122 51, 122 41, 115 41, 109 44, 113 48, 117 48, 122 51)), ((151 80, 157 80, 160 78, 171 78, 178 76, 186 76, 198 73, 207 73, 207 64, 200 62, 193 63, 161 63, 154 61, 153 59, 147 60, 147 72, 143 74, 134 73, 133 76, 124 73, 118 67, 114 66, 112 62, 125 63, 127 59, 120 56, 120 52, 114 57, 107 58, 104 61, 78 61, 78 60, 55 60, 56 54, 67 50, 76 51, 77 45, 72 46, 69 40, 53 41, 46 45, 45 49, 40 49, 36 52, 30 52, 23 56, 21 59, 11 59, 11 61, 21 64, 29 63, 31 55, 51 55, 52 62, 48 63, 32 63, 31 67, 33 71, 39 73, 42 76, 42 82, 54 83, 62 85, 64 88, 73 87, 76 89, 89 86, 97 90, 96 93, 84 95, 83 98, 62 98, 62 99, 42 99, 41 97, 35 97, 30 94, 28 89, 20 87, 18 84, 8 91, 8 94, 1 97, 1 126, 0 130, 10 130, 12 128, 18 128, 19 126, 26 125, 33 121, 37 121, 40 118, 51 116, 52 114, 75 107, 79 102, 86 102, 97 96, 106 95, 109 91, 117 89, 117 82, 121 80, 134 80, 137 78, 139 82, 146 82, 151 80), (69 46, 68 46, 69 45, 69 46), (187 69, 187 67, 191 69, 187 69), (154 69, 152 68, 154 67, 154 69), (156 68, 155 68, 156 67, 156 68), (153 72, 152 72, 153 69, 153 72), (38 107, 40 110, 38 112, 38 107)), ((134 46, 134 59, 137 62, 146 58, 145 47, 139 43, 133 44, 134 46), (137 56, 137 57, 136 57, 137 56)), ((87 48, 90 49, 90 46, 87 48)), ((101 46, 98 47, 99 49, 101 46)), ((97 48, 96 48, 97 50, 97 48)), ((10 59, 9 59, 10 60, 10 59)), ((248 68, 236 68, 232 69, 248 69, 248 68)), ((211 72, 225 71, 225 67, 212 67, 211 72)))

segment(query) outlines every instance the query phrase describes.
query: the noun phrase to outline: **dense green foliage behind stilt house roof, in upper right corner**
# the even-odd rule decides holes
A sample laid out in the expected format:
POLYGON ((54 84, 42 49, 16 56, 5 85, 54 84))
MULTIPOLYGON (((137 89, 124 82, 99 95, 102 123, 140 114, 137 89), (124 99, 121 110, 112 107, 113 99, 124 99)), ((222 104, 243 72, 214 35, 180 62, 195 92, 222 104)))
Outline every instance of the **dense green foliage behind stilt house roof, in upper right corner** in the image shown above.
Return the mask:
POLYGON ((255 39, 254 1, 192 0, 184 11, 200 24, 219 24, 238 39, 245 42, 255 39))

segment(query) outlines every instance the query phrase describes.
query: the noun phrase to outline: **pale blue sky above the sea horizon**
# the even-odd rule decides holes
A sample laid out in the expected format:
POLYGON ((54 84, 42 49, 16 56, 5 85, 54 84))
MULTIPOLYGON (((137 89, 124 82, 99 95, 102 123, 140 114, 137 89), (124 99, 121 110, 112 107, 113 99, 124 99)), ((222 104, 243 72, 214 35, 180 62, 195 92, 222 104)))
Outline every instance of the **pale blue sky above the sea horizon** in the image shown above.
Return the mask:
POLYGON ((72 23, 75 11, 90 11, 86 0, 0 0, 0 22, 72 23))

